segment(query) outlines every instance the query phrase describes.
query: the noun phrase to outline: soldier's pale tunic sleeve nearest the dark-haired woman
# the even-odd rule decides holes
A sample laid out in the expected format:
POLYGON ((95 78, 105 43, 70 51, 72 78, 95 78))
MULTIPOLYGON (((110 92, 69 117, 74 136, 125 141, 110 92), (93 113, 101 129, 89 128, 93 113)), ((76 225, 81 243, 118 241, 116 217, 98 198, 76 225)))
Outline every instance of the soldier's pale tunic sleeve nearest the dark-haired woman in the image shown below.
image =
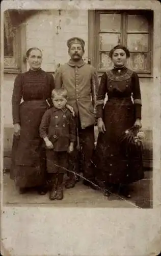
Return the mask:
POLYGON ((96 100, 99 88, 99 79, 97 71, 94 67, 92 67, 92 77, 91 77, 91 96, 92 96, 92 103, 94 108, 96 108, 96 100))

